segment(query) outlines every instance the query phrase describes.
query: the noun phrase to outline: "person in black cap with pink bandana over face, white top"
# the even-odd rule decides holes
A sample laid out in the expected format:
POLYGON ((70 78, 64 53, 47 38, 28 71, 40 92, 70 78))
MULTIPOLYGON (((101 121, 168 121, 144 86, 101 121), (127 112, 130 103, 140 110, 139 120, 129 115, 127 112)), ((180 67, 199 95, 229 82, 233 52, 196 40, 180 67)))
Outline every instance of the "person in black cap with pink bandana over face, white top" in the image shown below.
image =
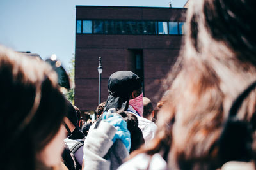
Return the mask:
POLYGON ((109 96, 106 101, 104 111, 110 108, 116 110, 129 111, 138 118, 145 143, 154 138, 156 125, 143 118, 143 92, 141 80, 132 71, 117 71, 108 80, 109 96))

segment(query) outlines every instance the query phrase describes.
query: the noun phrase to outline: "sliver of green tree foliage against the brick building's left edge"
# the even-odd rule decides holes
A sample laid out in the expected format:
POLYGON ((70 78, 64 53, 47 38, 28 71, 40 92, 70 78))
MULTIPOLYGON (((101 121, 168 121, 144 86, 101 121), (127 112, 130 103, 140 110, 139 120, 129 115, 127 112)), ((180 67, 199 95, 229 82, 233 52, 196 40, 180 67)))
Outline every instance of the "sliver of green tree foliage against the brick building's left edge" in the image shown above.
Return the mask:
POLYGON ((75 56, 73 54, 72 58, 69 61, 70 66, 68 67, 68 76, 70 78, 70 90, 65 93, 68 101, 74 104, 74 96, 75 96, 75 56))

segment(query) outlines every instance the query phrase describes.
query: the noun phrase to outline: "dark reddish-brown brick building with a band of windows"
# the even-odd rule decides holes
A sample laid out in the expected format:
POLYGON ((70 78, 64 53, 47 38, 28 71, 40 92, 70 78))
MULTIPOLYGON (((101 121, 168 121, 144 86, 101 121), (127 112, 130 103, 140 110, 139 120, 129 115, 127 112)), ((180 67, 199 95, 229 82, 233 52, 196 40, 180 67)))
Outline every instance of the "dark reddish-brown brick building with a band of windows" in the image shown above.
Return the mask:
POLYGON ((129 70, 143 80, 154 106, 161 82, 179 55, 186 8, 76 6, 75 104, 81 110, 98 105, 99 57, 101 101, 108 97, 108 78, 129 70))

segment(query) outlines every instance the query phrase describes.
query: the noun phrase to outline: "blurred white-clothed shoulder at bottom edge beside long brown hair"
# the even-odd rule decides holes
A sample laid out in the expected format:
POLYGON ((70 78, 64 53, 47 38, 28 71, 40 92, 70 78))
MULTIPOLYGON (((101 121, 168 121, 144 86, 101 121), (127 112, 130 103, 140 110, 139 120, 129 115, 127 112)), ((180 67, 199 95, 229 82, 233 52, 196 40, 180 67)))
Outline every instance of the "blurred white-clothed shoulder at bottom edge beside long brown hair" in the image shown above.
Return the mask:
POLYGON ((125 169, 166 170, 167 164, 164 161, 164 159, 161 157, 161 155, 159 155, 159 153, 156 153, 152 156, 147 155, 145 153, 140 153, 139 155, 136 155, 136 157, 122 164, 122 166, 118 167, 118 170, 125 170, 125 169))

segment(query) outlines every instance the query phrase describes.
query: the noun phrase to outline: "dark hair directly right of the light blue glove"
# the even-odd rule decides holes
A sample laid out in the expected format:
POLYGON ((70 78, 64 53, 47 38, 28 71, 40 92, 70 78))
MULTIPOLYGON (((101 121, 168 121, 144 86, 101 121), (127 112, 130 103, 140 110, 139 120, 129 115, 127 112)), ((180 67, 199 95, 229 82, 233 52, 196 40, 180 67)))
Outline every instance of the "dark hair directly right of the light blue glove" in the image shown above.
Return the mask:
POLYGON ((138 127, 138 118, 127 111, 118 111, 117 113, 119 113, 124 118, 125 122, 127 122, 127 129, 131 133, 131 153, 145 143, 143 134, 138 127))

